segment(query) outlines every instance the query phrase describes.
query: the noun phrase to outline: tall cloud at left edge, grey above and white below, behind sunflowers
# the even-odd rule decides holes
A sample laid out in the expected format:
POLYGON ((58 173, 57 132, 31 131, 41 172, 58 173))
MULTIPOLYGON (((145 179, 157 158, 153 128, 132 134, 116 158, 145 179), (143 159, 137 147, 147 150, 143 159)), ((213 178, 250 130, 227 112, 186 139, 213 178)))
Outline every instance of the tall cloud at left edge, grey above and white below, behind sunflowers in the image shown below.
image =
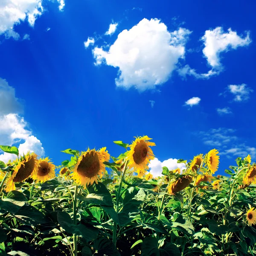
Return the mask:
MULTIPOLYGON (((15 145, 20 155, 34 151, 38 156, 43 156, 42 143, 32 135, 24 118, 19 116, 18 113, 22 112, 22 105, 15 97, 15 89, 0 78, 0 145, 15 145)), ((15 154, 0 154, 0 160, 4 162, 15 158, 15 154)))

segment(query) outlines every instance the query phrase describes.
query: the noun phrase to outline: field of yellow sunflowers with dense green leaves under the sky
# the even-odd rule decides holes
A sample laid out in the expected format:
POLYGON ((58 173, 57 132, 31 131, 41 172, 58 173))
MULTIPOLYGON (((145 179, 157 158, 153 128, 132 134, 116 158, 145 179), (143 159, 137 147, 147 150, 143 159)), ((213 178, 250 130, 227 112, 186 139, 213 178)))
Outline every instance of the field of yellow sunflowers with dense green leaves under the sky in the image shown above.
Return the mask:
POLYGON ((66 149, 61 166, 0 145, 17 156, 0 161, 0 255, 256 255, 250 155, 238 157, 227 176, 214 176, 212 149, 153 177, 151 138, 114 143, 123 147, 119 157, 105 147, 66 149))

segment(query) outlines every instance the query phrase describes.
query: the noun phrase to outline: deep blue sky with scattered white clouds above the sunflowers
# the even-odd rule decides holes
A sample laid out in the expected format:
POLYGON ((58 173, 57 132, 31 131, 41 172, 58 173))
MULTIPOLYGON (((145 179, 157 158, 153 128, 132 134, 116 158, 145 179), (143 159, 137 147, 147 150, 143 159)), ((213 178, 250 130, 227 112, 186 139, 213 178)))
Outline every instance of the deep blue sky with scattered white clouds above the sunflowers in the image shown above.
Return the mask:
POLYGON ((33 1, 0 4, 0 144, 59 165, 148 135, 155 173, 212 148, 218 173, 256 159, 254 1, 33 1))

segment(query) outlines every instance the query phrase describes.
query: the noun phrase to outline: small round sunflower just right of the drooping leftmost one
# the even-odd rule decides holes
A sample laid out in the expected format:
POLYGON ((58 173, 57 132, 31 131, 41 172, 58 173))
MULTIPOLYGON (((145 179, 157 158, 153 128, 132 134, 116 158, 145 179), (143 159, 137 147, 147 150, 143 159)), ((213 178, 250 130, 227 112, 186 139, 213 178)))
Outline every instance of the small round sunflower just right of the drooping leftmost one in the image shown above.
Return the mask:
POLYGON ((38 171, 33 175, 37 182, 45 182, 55 177, 56 166, 49 160, 49 157, 38 160, 38 171))

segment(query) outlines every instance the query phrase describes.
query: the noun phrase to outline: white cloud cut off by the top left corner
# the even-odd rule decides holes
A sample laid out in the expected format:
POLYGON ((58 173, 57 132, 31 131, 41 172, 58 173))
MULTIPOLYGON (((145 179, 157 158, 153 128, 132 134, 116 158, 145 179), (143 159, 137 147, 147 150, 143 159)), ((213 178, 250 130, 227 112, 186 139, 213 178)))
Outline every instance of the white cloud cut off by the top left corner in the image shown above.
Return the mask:
MULTIPOLYGON (((59 9, 62 10, 64 0, 57 0, 59 9)), ((34 26, 35 20, 40 16, 44 9, 43 0, 1 0, 0 1, 0 35, 6 38, 20 38, 14 31, 14 26, 21 21, 27 20, 30 26, 34 26)))

